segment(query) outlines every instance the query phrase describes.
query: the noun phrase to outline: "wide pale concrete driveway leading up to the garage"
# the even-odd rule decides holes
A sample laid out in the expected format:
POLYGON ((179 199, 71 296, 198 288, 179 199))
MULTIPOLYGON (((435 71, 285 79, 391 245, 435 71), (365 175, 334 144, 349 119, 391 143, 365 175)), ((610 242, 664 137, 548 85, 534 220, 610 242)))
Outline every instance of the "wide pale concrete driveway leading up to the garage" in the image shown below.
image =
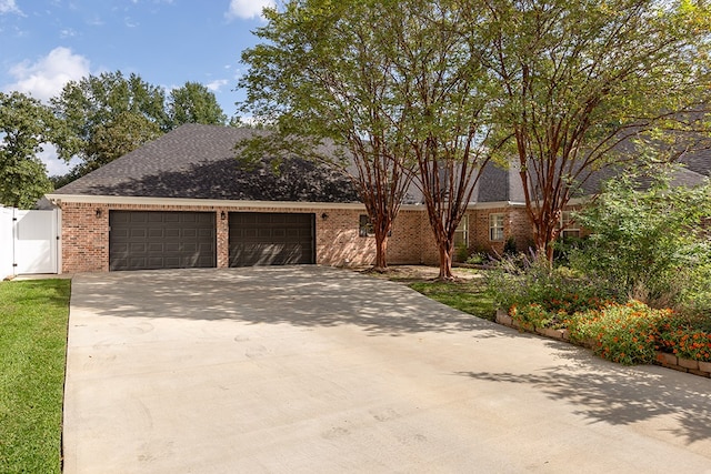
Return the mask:
POLYGON ((711 472, 711 381, 318 266, 77 275, 66 473, 711 472))

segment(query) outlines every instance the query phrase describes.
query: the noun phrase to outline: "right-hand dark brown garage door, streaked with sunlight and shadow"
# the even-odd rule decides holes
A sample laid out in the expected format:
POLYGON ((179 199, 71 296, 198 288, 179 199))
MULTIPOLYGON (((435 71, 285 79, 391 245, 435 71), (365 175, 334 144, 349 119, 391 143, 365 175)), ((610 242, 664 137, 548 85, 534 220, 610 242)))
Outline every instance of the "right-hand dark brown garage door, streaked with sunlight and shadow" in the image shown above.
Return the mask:
POLYGON ((230 212, 230 266, 316 262, 314 214, 230 212))

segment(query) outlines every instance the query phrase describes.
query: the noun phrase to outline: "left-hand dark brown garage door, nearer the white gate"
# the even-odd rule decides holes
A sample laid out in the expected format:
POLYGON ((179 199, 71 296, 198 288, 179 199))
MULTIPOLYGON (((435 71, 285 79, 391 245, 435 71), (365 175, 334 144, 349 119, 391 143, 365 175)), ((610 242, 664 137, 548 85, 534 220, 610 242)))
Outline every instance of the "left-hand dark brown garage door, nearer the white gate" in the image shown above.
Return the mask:
POLYGON ((111 211, 110 270, 213 268, 214 213, 111 211))

